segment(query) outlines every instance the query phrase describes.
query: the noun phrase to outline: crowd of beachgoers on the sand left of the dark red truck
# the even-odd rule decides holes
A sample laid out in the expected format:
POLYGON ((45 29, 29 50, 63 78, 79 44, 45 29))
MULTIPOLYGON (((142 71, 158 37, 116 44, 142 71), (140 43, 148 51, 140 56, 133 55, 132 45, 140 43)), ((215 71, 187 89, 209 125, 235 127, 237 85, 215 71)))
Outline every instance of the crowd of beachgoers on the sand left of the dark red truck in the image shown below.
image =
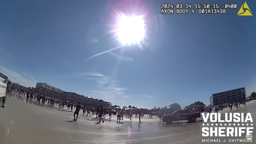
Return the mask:
MULTIPOLYGON (((58 100, 55 98, 51 98, 51 97, 47 97, 45 95, 41 95, 41 94, 36 94, 34 92, 30 92, 30 91, 26 91, 24 89, 21 89, 17 86, 12 85, 11 86, 11 91, 14 93, 17 93, 19 95, 22 96, 26 96, 26 102, 29 101, 35 101, 38 104, 42 104, 45 105, 47 103, 47 105, 49 107, 59 107, 59 108, 64 108, 65 107, 65 102, 62 100, 58 100)), ((77 120, 78 118, 78 114, 79 111, 83 112, 83 115, 86 114, 86 116, 96 116, 95 118, 99 118, 99 122, 102 121, 102 123, 104 123, 104 120, 102 118, 106 118, 106 114, 109 115, 109 119, 112 118, 112 109, 108 109, 107 108, 103 108, 103 106, 96 106, 96 107, 92 107, 92 106, 81 106, 80 103, 78 102, 78 104, 72 104, 72 103, 67 103, 67 110, 70 110, 71 112, 73 111, 73 107, 76 108, 75 112, 74 112, 74 121, 77 120), (75 117, 76 115, 76 117, 75 117)), ((141 111, 140 109, 137 110, 129 110, 129 109, 117 109, 116 111, 117 114, 117 121, 120 122, 120 120, 123 120, 123 117, 132 120, 133 115, 135 115, 136 118, 139 118, 139 122, 141 122, 141 118, 144 117, 144 112, 141 111)), ((153 113, 150 112, 149 113, 149 118, 153 117, 153 113)), ((160 118, 161 121, 161 117, 162 117, 162 112, 158 112, 157 117, 160 118)))

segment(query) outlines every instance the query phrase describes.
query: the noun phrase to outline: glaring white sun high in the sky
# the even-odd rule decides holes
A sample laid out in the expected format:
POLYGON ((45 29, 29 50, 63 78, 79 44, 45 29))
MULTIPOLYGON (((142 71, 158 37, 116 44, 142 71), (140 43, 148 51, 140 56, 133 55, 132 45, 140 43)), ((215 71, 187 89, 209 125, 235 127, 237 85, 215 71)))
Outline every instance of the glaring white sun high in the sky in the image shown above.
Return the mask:
POLYGON ((121 15, 117 24, 117 37, 123 45, 139 43, 145 36, 145 20, 142 16, 121 15))

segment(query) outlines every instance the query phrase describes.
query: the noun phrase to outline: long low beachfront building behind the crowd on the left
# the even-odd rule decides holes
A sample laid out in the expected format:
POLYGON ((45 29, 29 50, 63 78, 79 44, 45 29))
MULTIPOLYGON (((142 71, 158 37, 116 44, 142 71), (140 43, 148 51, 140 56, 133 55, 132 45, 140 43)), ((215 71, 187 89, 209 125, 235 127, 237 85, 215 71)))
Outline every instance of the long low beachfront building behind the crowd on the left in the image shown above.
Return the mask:
POLYGON ((103 100, 94 99, 75 92, 66 92, 59 88, 47 85, 46 83, 38 82, 36 85, 36 93, 46 95, 48 97, 60 99, 63 101, 69 101, 71 103, 80 102, 83 105, 110 107, 112 104, 103 100))

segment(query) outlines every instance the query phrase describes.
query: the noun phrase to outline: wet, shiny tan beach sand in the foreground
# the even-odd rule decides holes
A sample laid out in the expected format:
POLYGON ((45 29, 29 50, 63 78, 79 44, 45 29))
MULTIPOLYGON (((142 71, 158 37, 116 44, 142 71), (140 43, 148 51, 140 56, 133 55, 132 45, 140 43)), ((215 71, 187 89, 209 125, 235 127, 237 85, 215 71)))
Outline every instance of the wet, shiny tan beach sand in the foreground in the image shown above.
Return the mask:
MULTIPOLYGON (((141 123, 135 117, 116 122, 116 115, 111 120, 106 115, 104 123, 98 123, 95 116, 81 112, 73 122, 73 113, 66 108, 27 103, 21 97, 7 98, 5 108, 0 109, 0 144, 191 144, 202 139, 201 122, 165 124, 147 115, 141 123)), ((240 110, 255 112, 255 104, 252 101, 240 110)))

